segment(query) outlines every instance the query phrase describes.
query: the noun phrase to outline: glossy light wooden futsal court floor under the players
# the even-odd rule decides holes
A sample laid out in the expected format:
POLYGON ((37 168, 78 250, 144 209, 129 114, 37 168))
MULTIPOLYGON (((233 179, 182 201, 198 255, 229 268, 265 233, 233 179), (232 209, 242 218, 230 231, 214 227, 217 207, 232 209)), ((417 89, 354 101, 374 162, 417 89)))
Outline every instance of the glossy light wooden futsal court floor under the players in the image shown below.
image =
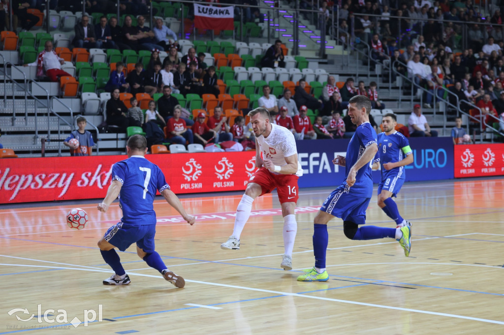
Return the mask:
MULTIPOLYGON (((301 269, 313 266, 312 220, 330 191, 301 190, 293 271, 280 268, 283 220, 276 193, 254 202, 240 250, 229 251, 219 245, 232 232, 241 193, 183 198, 198 215, 194 226, 179 222, 156 198, 156 249, 185 278, 183 289, 148 268, 135 246, 119 253, 132 283, 102 285, 111 270, 96 242, 119 220, 117 203, 105 214, 97 212, 98 200, 3 205, 0 334, 504 333, 503 179, 406 183, 397 203, 413 223, 410 258, 392 239, 347 239, 335 219, 329 224, 330 280, 297 282, 301 269), (66 225, 65 213, 74 207, 90 216, 84 230, 66 225), (96 320, 74 327, 70 322, 84 321, 85 310, 87 320, 93 312, 96 320), (68 331, 48 328, 55 326, 68 331)), ((395 226, 375 196, 367 220, 395 226)))

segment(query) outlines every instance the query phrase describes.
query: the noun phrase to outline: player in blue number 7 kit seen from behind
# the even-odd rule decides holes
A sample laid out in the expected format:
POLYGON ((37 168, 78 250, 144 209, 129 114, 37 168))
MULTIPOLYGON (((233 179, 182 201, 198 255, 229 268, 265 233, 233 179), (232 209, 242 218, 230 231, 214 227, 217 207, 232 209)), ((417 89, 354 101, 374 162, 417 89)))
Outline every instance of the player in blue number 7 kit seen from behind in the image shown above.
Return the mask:
POLYGON ((177 196, 170 191, 163 172, 145 158, 147 140, 142 135, 133 135, 126 147, 128 159, 112 166, 112 181, 98 210, 106 212, 110 204, 119 196, 122 209, 121 221, 110 227, 98 241, 100 252, 114 274, 103 281, 104 285, 128 285, 131 280, 120 263, 115 247, 121 251, 137 243, 137 254, 148 266, 159 271, 165 280, 176 287, 184 287, 185 281, 166 268, 159 254, 154 250, 156 233, 156 213, 154 197, 159 191, 165 200, 190 225, 195 222, 193 215, 188 215, 177 196))

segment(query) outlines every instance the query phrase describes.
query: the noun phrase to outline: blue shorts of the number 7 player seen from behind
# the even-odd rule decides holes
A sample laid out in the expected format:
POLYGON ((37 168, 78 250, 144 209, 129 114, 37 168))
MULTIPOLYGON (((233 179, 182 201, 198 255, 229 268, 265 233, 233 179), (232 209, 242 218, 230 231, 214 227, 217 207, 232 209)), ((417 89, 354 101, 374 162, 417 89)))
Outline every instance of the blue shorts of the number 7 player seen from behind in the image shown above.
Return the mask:
POLYGON ((154 252, 154 235, 156 234, 156 224, 131 225, 119 222, 110 228, 103 236, 103 239, 124 251, 133 243, 144 250, 147 254, 154 252))

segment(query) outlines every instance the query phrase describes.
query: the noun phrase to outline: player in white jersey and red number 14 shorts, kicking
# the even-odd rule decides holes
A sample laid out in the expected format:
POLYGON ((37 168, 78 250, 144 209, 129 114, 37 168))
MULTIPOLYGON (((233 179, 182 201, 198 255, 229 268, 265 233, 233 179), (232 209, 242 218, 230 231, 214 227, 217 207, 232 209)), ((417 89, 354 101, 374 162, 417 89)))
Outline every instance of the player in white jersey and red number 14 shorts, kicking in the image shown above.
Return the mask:
POLYGON ((256 135, 256 166, 259 170, 248 181, 245 194, 236 208, 233 234, 221 244, 221 249, 240 248, 241 231, 250 216, 252 202, 276 188, 284 218, 284 255, 280 267, 292 270, 292 248, 297 232, 294 209, 299 199, 297 180, 302 175, 297 162, 296 141, 289 129, 271 123, 267 109, 256 108, 248 116, 256 135))

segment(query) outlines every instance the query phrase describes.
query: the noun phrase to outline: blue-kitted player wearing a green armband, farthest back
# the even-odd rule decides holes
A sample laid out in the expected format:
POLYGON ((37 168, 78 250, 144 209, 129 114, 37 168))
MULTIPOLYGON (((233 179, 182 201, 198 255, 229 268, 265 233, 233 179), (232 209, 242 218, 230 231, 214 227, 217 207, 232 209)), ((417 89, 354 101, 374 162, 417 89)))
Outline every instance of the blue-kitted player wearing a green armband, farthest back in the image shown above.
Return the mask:
POLYGON ((382 119, 382 125, 384 132, 378 134, 380 162, 373 163, 373 169, 377 169, 379 164, 382 165, 382 180, 378 185, 378 206, 396 221, 398 228, 406 225, 411 227, 411 222, 399 214, 392 197, 397 197, 404 184, 406 176, 404 166, 413 162, 413 152, 408 139, 395 130, 397 125, 395 114, 386 114, 382 119))

